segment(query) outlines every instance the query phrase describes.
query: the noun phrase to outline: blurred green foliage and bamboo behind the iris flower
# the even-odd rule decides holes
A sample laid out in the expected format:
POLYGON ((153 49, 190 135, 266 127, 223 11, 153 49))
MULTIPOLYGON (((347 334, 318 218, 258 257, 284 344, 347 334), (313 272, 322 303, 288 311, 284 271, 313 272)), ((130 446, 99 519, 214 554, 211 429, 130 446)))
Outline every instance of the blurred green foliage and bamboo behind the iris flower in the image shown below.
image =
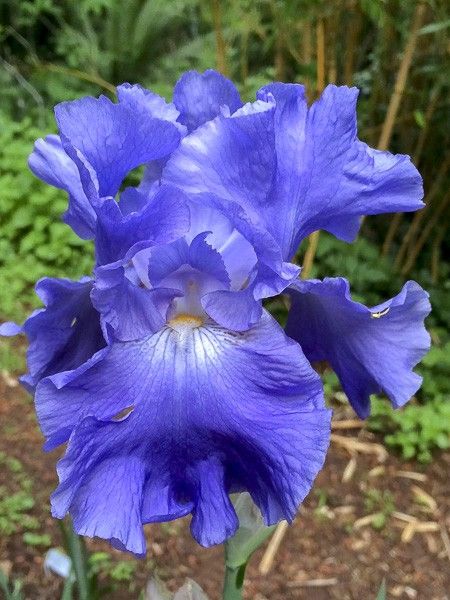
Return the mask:
MULTIPOLYGON (((311 274, 348 277, 366 304, 409 278, 430 291, 423 388, 399 413, 375 400, 370 425, 403 456, 429 461, 450 432, 449 29, 446 0, 0 0, 0 318, 22 321, 38 305, 38 278, 91 268, 90 244, 60 222, 65 194, 26 164, 34 140, 55 131, 57 102, 113 97, 124 81, 170 98, 192 68, 218 68, 247 100, 272 80, 305 83, 311 100, 328 82, 356 85, 360 138, 413 157, 427 206, 366 219, 352 245, 321 234, 311 274)), ((0 340, 0 369, 20 371, 23 355, 0 340)), ((336 379, 325 377, 333 396, 336 379)))

